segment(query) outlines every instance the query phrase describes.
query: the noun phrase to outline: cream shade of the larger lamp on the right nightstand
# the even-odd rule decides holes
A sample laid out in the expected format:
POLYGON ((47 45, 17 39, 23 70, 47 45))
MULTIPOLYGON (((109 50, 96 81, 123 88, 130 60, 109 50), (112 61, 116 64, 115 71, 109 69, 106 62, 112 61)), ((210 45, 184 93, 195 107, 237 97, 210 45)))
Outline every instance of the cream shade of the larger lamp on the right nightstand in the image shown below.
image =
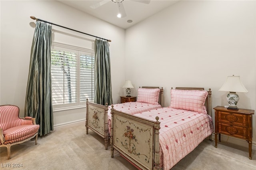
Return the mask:
POLYGON ((248 93, 248 90, 244 87, 239 75, 228 76, 219 91, 248 93))

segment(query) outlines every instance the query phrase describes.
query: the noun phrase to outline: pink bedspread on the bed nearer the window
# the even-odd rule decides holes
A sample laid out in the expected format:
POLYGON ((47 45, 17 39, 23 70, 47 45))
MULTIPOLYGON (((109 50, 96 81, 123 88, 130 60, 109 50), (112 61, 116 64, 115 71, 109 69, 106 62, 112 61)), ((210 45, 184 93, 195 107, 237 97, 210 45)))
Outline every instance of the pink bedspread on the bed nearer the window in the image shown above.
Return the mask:
MULTIPOLYGON (((122 111, 124 113, 128 113, 130 115, 134 115, 136 113, 142 113, 145 111, 159 109, 162 108, 160 104, 152 105, 149 103, 142 103, 142 102, 127 102, 127 103, 119 103, 113 105, 114 109, 118 111, 122 111)), ((111 106, 108 106, 108 132, 111 134, 111 106)))

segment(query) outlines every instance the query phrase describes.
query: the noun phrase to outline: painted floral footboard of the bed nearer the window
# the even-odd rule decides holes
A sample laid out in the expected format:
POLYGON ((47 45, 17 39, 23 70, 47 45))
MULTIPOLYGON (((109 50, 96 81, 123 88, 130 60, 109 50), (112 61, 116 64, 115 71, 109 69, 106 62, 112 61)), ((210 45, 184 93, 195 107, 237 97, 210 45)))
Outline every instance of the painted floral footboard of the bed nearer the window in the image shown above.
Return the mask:
POLYGON ((105 139, 105 149, 108 146, 108 105, 99 105, 96 103, 86 101, 86 134, 88 128, 96 132, 105 139))

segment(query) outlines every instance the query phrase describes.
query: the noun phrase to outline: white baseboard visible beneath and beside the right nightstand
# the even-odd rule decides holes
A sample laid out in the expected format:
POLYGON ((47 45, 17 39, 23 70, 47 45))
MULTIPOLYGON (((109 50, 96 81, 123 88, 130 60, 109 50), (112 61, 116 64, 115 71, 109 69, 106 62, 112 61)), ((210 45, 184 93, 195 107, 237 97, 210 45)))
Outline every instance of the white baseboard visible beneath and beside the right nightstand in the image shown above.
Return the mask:
MULTIPOLYGON (((212 134, 212 139, 215 139, 215 135, 212 134)), ((232 136, 227 136, 224 134, 221 134, 221 141, 226 141, 226 142, 230 142, 232 144, 237 144, 239 146, 243 146, 248 148, 248 142, 246 140, 242 140, 240 138, 234 138, 232 136)), ((256 150, 256 142, 252 141, 252 149, 256 150)))

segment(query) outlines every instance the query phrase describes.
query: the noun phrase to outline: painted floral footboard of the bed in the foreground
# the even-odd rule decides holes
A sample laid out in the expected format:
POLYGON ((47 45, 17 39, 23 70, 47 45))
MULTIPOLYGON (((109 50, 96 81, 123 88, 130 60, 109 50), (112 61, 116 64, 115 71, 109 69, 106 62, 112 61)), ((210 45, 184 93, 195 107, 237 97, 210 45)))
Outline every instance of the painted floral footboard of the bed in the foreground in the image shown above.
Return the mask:
POLYGON ((154 122, 115 109, 111 114, 111 157, 116 149, 142 169, 159 169, 159 118, 154 122))

